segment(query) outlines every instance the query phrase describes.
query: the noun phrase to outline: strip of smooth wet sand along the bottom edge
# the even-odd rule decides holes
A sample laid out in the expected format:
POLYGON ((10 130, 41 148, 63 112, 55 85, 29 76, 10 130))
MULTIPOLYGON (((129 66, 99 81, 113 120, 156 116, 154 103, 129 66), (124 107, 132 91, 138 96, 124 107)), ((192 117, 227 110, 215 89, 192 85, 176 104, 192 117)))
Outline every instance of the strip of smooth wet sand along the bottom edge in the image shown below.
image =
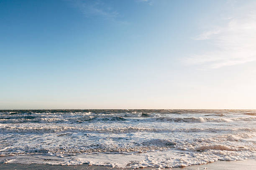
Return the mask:
MULTIPOLYGON (((110 168, 106 166, 83 165, 48 165, 48 164, 0 164, 0 170, 130 170, 130 168, 110 168)), ((139 168, 140 170, 156 170, 157 168, 139 168)), ((165 168, 164 170, 255 170, 256 160, 217 161, 204 165, 192 165, 182 168, 165 168)))

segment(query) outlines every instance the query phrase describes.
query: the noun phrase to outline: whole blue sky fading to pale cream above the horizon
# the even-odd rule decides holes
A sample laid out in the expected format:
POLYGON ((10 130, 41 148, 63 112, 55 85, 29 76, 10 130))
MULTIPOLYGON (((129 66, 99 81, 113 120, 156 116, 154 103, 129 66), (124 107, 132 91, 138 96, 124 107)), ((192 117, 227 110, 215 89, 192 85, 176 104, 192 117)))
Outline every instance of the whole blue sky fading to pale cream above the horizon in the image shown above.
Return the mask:
POLYGON ((1 0, 0 109, 256 109, 256 1, 1 0))

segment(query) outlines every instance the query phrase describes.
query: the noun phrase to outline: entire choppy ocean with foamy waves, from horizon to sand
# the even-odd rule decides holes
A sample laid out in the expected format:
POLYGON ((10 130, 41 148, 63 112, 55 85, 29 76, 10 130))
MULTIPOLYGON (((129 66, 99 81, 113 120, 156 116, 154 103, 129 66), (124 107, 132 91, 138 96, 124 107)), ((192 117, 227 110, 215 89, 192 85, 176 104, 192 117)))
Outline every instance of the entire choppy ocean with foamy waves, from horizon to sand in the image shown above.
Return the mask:
POLYGON ((256 110, 0 110, 0 162, 172 168, 256 159, 256 110))

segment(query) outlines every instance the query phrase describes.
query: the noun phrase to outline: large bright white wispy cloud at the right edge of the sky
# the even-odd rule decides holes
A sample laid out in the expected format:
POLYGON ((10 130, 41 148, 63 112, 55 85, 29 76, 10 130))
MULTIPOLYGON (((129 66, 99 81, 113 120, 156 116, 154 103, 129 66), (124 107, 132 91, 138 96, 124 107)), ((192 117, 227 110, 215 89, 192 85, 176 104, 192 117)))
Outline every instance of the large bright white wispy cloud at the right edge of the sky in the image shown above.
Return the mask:
POLYGON ((195 40, 209 41, 218 50, 192 55, 185 62, 211 69, 256 61, 256 14, 225 20, 225 25, 195 37, 195 40))

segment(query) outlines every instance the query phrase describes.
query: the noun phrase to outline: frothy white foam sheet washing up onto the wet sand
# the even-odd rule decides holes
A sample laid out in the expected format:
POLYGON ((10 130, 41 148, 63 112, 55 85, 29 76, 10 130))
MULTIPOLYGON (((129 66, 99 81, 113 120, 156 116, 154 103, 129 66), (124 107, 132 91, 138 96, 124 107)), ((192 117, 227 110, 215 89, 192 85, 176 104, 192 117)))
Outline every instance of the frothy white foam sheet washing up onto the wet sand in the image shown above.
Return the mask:
MULTIPOLYGON (((217 160, 244 160, 255 159, 255 153, 229 150, 207 150, 205 152, 179 152, 179 150, 166 150, 153 153, 123 154, 90 154, 90 155, 64 155, 54 157, 50 155, 24 155, 13 156, 10 159, 16 163, 48 163, 51 165, 102 165, 120 168, 173 168, 189 165, 200 165, 217 160), (29 159, 28 159, 29 158, 29 159)), ((0 158, 1 159, 1 158, 0 158)), ((8 162, 9 163, 9 162, 8 162)))

